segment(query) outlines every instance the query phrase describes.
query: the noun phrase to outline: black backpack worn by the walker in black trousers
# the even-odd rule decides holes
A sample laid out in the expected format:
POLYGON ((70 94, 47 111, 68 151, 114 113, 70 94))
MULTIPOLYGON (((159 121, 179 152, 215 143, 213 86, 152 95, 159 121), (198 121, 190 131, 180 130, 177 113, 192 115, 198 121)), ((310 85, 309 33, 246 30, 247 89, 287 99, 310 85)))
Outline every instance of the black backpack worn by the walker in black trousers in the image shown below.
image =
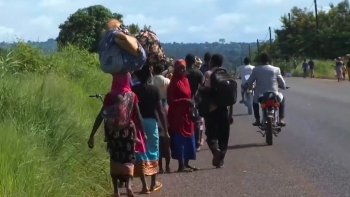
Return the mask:
POLYGON ((210 76, 210 82, 214 105, 224 107, 237 102, 237 82, 225 69, 214 70, 210 76))

